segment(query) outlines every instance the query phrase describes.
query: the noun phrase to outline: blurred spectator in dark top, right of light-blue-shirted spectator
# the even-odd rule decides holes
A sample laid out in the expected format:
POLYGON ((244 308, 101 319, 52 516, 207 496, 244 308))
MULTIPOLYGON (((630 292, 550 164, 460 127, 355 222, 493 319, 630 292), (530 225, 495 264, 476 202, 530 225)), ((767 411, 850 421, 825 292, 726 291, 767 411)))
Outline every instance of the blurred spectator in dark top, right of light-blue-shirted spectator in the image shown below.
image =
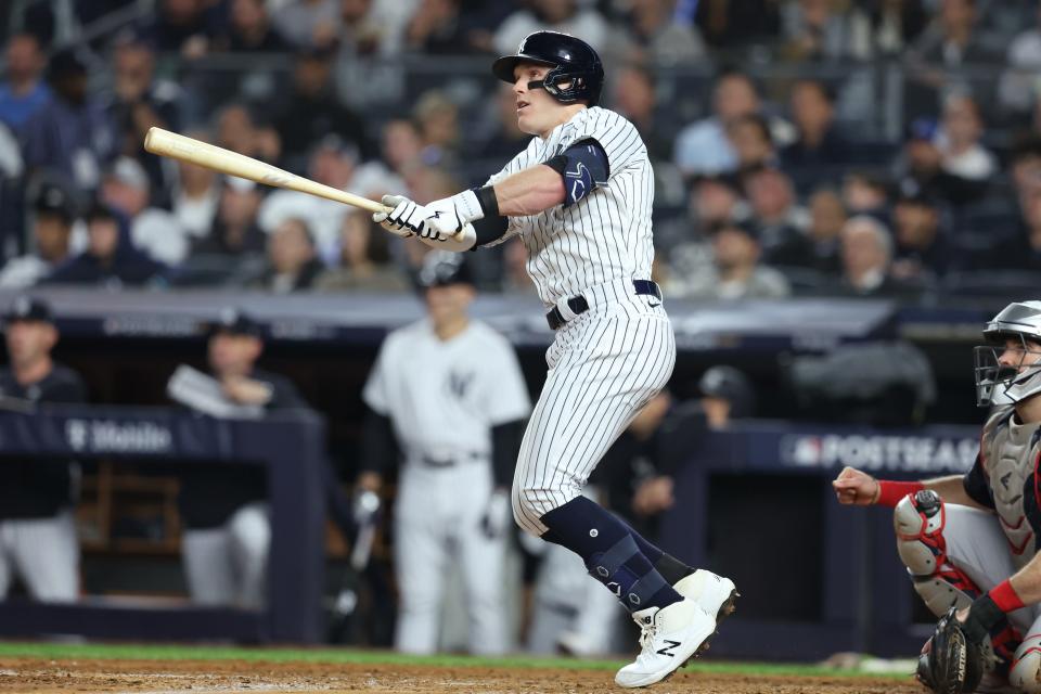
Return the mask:
POLYGON ((796 140, 781 151, 785 168, 835 166, 849 162, 849 146, 835 125, 835 95, 823 82, 802 79, 792 88, 796 140))

